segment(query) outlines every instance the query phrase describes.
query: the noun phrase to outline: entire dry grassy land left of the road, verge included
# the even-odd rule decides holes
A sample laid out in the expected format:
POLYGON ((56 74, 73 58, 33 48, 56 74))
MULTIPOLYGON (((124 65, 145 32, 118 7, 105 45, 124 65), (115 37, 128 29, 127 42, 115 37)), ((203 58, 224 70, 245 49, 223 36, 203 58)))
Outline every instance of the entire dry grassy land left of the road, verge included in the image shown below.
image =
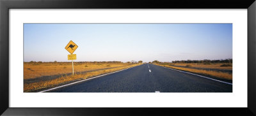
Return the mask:
POLYGON ((34 92, 40 89, 56 87, 68 82, 83 80, 138 65, 140 64, 74 62, 75 75, 72 75, 71 63, 24 62, 24 92, 34 92), (44 80, 45 78, 47 80, 44 80), (28 82, 27 80, 33 80, 33 82, 28 82))

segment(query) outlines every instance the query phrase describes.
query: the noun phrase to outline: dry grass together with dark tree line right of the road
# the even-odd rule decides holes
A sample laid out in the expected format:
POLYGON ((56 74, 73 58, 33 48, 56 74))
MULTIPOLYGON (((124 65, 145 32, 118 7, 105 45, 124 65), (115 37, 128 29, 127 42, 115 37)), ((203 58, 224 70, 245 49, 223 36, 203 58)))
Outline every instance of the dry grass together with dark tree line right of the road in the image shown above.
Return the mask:
POLYGON ((179 69, 200 75, 219 78, 221 80, 232 81, 232 59, 225 60, 202 60, 202 61, 173 61, 159 62, 153 61, 152 64, 167 68, 179 69))

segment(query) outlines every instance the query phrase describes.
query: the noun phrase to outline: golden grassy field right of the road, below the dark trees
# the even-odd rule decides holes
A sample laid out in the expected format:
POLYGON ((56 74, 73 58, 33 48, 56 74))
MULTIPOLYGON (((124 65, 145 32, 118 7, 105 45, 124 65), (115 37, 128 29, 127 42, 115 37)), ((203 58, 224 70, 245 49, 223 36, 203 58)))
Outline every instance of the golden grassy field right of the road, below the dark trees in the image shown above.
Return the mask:
POLYGON ((159 63, 157 65, 223 80, 232 80, 232 63, 159 63))

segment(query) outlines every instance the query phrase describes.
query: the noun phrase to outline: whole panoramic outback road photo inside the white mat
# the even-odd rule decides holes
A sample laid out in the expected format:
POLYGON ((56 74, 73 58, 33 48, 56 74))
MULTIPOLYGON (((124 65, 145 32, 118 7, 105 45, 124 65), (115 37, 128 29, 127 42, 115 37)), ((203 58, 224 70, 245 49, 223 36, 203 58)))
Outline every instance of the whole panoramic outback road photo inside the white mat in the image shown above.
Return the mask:
POLYGON ((232 24, 24 24, 23 92, 232 92, 232 24))

